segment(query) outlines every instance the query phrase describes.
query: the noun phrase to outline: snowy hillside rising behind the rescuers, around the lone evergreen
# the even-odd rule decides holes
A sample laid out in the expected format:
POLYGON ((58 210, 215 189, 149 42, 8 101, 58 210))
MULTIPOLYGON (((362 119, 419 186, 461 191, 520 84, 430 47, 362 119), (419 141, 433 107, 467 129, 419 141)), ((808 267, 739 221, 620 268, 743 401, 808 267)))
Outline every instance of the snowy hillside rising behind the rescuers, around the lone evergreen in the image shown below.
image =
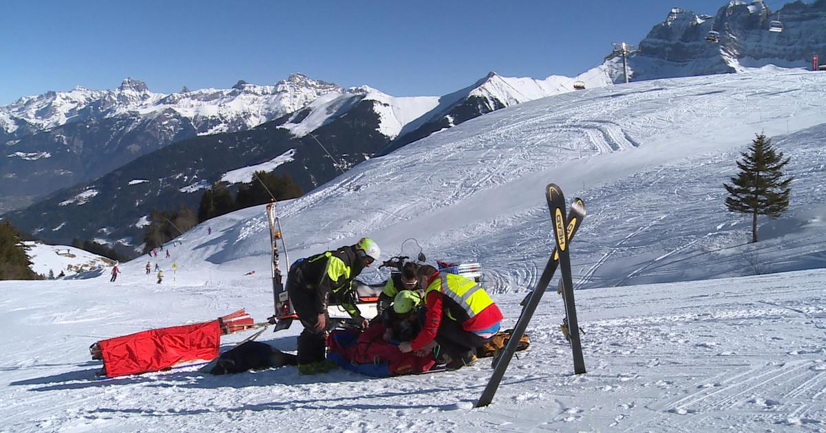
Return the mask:
MULTIPOLYGON (((414 237, 482 261, 494 289, 525 290, 553 245, 543 187, 555 181, 591 209, 574 244, 580 287, 748 275, 752 261, 824 266, 824 92, 826 74, 755 72, 527 102, 364 162, 285 206, 285 232, 297 256, 364 234, 389 255, 414 237), (752 246, 750 219, 725 210, 722 184, 760 131, 797 180, 790 211, 761 219, 765 242, 752 246)), ((247 225, 263 254, 263 214, 247 225)), ((224 254, 249 254, 234 248, 224 254)))

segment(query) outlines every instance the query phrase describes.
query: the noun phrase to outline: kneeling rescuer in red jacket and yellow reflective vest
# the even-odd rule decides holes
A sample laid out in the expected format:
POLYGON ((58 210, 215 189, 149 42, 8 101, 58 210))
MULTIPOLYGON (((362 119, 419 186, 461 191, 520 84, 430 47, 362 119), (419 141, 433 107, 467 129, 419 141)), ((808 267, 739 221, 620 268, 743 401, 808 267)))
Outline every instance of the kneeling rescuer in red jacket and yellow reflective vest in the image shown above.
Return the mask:
POLYGON ((436 344, 447 355, 448 369, 476 360, 476 348, 499 331, 502 313, 485 289, 461 275, 442 273, 425 265, 417 273, 425 287, 427 314, 419 335, 399 345, 402 352, 426 355, 436 344))

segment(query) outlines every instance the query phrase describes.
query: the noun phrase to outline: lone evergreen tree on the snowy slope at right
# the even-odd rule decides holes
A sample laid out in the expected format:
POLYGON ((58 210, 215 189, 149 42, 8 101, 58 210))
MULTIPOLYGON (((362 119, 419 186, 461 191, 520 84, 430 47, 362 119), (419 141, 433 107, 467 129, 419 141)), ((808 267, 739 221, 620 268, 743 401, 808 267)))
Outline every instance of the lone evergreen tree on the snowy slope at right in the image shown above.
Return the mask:
POLYGON ((757 134, 748 152, 740 153, 737 162, 740 172, 733 176, 731 185, 723 184, 729 196, 725 205, 730 212, 752 214, 752 242, 757 242, 757 215, 779 218, 789 207, 789 194, 793 177, 784 178, 783 167, 790 158, 775 150, 771 139, 765 134, 757 134))

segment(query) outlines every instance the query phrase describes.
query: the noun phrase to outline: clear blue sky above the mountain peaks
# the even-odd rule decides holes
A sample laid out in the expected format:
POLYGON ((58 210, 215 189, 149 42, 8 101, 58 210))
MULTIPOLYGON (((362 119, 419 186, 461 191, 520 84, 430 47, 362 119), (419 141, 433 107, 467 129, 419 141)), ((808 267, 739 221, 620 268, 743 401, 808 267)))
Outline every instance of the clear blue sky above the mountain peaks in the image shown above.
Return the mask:
MULTIPOLYGON (((486 73, 545 78, 638 43, 671 7, 726 0, 0 2, 0 105, 126 77, 154 92, 272 84, 289 73, 393 96, 438 96, 486 73)), ((782 2, 767 1, 772 9, 782 2)))

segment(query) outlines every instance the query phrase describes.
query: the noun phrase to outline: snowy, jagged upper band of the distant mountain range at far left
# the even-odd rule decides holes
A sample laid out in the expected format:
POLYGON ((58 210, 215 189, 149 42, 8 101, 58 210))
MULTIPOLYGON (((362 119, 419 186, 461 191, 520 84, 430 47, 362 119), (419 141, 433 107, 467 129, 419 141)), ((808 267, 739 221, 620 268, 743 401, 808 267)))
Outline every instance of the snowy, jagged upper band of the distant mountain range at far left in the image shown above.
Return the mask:
POLYGON ((0 134, 17 139, 67 123, 136 113, 172 110, 190 120, 197 134, 249 129, 297 111, 327 92, 339 90, 329 82, 294 73, 272 86, 240 80, 229 89, 206 88, 169 95, 151 92, 146 83, 126 78, 116 90, 75 87, 69 92, 25 96, 0 106, 0 134))

